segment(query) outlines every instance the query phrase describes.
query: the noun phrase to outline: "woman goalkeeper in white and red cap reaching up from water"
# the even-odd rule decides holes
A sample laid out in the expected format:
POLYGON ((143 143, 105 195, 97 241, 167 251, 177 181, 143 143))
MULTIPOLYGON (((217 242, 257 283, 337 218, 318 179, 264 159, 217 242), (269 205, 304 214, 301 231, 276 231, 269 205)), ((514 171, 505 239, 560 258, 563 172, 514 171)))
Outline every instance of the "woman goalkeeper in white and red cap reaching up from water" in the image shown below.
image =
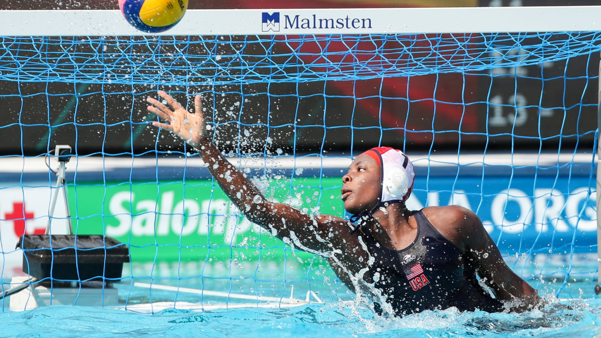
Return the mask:
POLYGON ((540 303, 537 291, 505 264, 471 210, 406 208, 415 173, 400 150, 370 149, 343 176, 344 209, 357 226, 331 215, 307 215, 264 198, 221 155, 209 137, 200 96, 191 113, 169 94, 158 93, 168 106, 148 97, 148 110, 166 123, 153 125, 197 149, 221 189, 249 220, 284 242, 326 257, 351 290, 371 293, 377 312, 405 315, 448 307, 520 312, 540 303))

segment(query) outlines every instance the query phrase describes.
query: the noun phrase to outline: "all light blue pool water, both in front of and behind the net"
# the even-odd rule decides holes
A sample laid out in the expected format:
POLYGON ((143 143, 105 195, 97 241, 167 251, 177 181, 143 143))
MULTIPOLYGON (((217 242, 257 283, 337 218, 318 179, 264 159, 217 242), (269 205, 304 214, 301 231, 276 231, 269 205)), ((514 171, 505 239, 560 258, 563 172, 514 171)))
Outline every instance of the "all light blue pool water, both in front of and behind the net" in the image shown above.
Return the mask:
MULTIPOLYGON (((593 267, 589 267, 594 271, 593 267)), ((167 274, 159 271, 159 275, 167 274)), ((191 273, 196 273, 192 271, 191 273)), ((136 271, 151 275, 148 271, 136 271)), ((288 276, 290 277, 290 276, 288 276)), ((297 276, 294 276, 297 277, 297 276)), ((426 311, 403 318, 384 318, 358 301, 338 283, 297 280, 292 283, 258 283, 250 278, 135 278, 136 282, 156 283, 197 290, 239 292, 266 297, 304 299, 308 291, 325 301, 298 307, 245 307, 253 300, 207 297, 179 290, 149 290, 132 287, 126 278, 115 283, 121 309, 84 306, 46 306, 25 312, 10 312, 8 300, 0 311, 2 337, 601 337, 601 296, 594 294, 594 274, 564 282, 564 278, 529 280, 545 299, 545 306, 525 313, 457 312, 456 309, 426 311), (294 286, 294 290, 291 289, 294 286), (253 289, 254 287, 254 289, 253 289), (557 298, 559 297, 559 299, 557 298), (571 300, 564 300, 570 298, 571 300), (153 302, 166 307, 138 306, 153 302), (175 303, 174 303, 175 302, 175 303), (213 309, 205 312, 182 310, 213 309), (178 309, 173 309, 177 304, 178 309), (226 305, 227 304, 227 305, 226 305), (171 308, 169 308, 171 307, 171 308), (167 308, 166 310, 163 310, 167 308), (125 310, 124 310, 125 309, 125 310), (142 314, 141 312, 145 313, 142 314), (152 313, 152 314, 148 314, 152 313)), ((4 281, 8 283, 8 280, 4 281)), ((12 298, 13 296, 11 296, 12 298)), ((314 300, 314 299, 312 299, 314 300)), ((81 303, 80 303, 81 304, 81 303)))

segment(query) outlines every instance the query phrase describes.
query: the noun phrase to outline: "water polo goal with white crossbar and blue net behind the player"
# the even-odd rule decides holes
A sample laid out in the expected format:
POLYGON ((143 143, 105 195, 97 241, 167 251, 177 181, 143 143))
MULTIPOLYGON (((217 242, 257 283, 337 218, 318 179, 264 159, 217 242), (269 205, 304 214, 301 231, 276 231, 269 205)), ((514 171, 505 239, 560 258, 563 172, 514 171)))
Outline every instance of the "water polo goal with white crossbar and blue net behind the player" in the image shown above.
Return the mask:
POLYGON ((149 126, 145 99, 164 90, 188 108, 201 94, 219 149, 272 200, 344 217, 352 158, 396 147, 416 168, 410 208, 468 207, 540 292, 590 297, 601 35, 582 11, 189 11, 158 36, 115 11, 2 13, 2 290, 23 275, 20 236, 46 230, 65 144, 70 215, 58 203, 50 232, 70 221, 129 247, 103 286, 118 306, 352 297, 327 260, 246 220, 198 154, 149 126))

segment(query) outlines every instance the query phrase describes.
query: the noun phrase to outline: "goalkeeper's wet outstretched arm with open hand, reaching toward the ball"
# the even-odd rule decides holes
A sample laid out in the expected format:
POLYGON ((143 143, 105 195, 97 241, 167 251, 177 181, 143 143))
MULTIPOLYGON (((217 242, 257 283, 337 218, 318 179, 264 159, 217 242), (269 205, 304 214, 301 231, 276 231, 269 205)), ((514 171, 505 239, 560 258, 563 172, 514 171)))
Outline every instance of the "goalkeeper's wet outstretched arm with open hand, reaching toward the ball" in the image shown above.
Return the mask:
MULTIPOLYGON (((346 220, 330 215, 307 215, 287 204, 268 201, 245 174, 221 155, 210 140, 200 96, 194 98, 195 112, 191 113, 164 91, 159 91, 159 95, 172 109, 148 97, 147 101, 151 103, 148 110, 168 121, 154 121, 153 125, 173 132, 197 149, 221 189, 249 220, 269 230, 279 239, 296 244, 301 250, 345 253, 347 248, 361 248, 357 236, 350 234, 350 223, 346 220)), ((359 256, 364 254, 352 256, 343 258, 347 261, 344 265, 356 272, 359 266, 354 265, 362 261, 359 256)), ((364 259, 367 262, 367 253, 364 259)))

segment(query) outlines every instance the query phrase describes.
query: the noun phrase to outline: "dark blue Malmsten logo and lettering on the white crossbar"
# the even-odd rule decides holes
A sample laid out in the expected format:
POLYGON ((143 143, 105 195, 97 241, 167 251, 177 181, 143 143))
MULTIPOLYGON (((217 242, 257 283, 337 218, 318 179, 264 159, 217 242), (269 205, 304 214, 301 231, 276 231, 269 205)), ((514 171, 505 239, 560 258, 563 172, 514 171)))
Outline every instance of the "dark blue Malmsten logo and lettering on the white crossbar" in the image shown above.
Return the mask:
MULTIPOLYGON (((273 12, 261 13, 261 29, 264 32, 279 32, 280 14, 273 12)), ((371 27, 368 17, 319 17, 317 14, 309 16, 284 15, 284 29, 367 29, 371 27)))

